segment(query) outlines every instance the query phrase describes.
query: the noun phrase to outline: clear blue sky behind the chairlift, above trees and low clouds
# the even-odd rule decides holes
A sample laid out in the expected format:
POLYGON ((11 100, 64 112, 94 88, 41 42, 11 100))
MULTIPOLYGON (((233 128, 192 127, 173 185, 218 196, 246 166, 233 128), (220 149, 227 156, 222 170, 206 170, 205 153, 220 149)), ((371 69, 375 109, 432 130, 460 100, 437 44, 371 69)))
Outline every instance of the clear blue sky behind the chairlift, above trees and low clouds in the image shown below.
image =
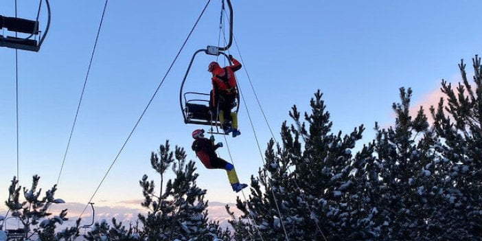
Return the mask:
MULTIPOLYGON (((57 196, 87 203, 161 82, 206 1, 110 1, 84 93, 57 196)), ((37 6, 19 1, 19 16, 34 18, 37 6)), ((41 51, 19 51, 19 176, 29 186, 33 174, 46 190, 56 183, 76 113, 80 91, 104 1, 52 1, 52 23, 41 51)), ((391 124, 392 102, 400 87, 412 87, 413 103, 423 104, 442 78, 458 81, 457 63, 481 54, 481 1, 233 1, 234 35, 242 56, 238 82, 246 105, 240 108, 242 135, 227 137, 241 181, 257 175, 271 137, 255 102, 246 72, 268 123, 279 127, 297 104, 308 111, 321 89, 334 122, 344 133, 374 122, 391 124)), ((0 14, 14 15, 14 2, 1 1, 0 14)), ((203 127, 183 123, 179 88, 194 51, 217 45, 220 1, 211 1, 137 130, 94 196, 116 205, 141 198, 150 152, 166 139, 190 150, 190 133, 203 127)), ((45 27, 45 11, 41 15, 45 27)), ((9 34, 3 30, 3 34, 9 34)), ((16 174, 15 51, 0 49, 0 199, 16 174)), ((207 65, 196 58, 186 90, 207 92, 207 65)), ((225 142, 223 137, 216 137, 225 142)), ((229 160, 227 148, 218 154, 229 160)), ((197 161, 197 159, 196 159, 197 161)), ((211 201, 232 203, 222 170, 196 163, 198 185, 211 201)), ((169 177, 169 176, 168 176, 169 177)))

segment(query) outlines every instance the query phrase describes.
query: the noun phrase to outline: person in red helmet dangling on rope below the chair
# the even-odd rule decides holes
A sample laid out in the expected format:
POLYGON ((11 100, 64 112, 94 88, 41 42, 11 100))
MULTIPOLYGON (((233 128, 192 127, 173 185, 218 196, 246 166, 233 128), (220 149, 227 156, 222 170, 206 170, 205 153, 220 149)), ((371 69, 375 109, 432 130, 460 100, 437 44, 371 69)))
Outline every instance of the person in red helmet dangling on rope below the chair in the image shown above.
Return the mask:
POLYGON ((248 185, 240 183, 236 170, 234 170, 233 164, 221 159, 216 154, 216 149, 222 147, 222 142, 214 145, 214 136, 210 139, 204 137, 204 130, 198 129, 192 132, 192 150, 196 152, 196 156, 205 165, 207 169, 224 169, 227 172, 229 183, 233 187, 234 192, 240 192, 244 187, 248 185))

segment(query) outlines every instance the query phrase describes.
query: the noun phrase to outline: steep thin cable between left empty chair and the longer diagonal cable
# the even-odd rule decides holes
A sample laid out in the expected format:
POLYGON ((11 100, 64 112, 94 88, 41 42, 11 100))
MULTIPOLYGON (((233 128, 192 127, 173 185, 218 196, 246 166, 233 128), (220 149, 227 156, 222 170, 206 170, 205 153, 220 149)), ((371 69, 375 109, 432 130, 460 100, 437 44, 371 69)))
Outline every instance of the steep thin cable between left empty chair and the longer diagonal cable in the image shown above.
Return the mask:
POLYGON ((106 14, 107 3, 108 3, 108 0, 105 1, 104 10, 102 10, 102 16, 100 18, 99 28, 97 29, 97 36, 95 36, 95 41, 94 41, 94 45, 93 45, 93 48, 92 48, 91 60, 89 61, 89 67, 87 67, 87 73, 86 73, 85 79, 84 79, 84 86, 82 87, 82 92, 80 93, 79 103, 77 105, 76 117, 73 118, 72 128, 70 129, 69 141, 67 141, 67 148, 65 148, 64 157, 62 158, 62 165, 60 166, 60 172, 58 173, 56 185, 58 185, 58 182, 60 181, 60 176, 62 175, 62 170, 64 168, 65 159, 67 158, 67 153, 69 152, 70 141, 71 141, 72 135, 73 135, 73 129, 76 127, 77 117, 79 115, 79 110, 80 110, 80 105, 82 104, 82 99, 84 97, 85 87, 87 86, 87 80, 89 79, 89 73, 91 71, 93 57, 94 57, 94 54, 95 54, 95 49, 97 47, 97 41, 99 41, 100 30, 102 29, 102 22, 104 21, 104 16, 106 14))

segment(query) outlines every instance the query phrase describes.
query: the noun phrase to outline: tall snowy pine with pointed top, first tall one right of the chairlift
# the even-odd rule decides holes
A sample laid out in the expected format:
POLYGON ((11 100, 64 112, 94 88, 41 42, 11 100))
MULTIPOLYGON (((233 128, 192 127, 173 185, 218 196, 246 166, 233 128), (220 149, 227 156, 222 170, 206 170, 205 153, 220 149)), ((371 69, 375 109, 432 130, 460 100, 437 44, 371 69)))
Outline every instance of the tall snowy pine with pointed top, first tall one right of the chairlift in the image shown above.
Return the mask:
MULTIPOLYGON (((355 187, 360 186, 358 168, 371 157, 372 149, 364 146, 356 158, 352 156, 365 128, 360 125, 349 135, 332 133, 330 113, 321 97, 320 91, 315 93, 310 101, 311 113, 304 114, 308 127, 301 124, 296 106, 290 113, 296 124, 291 131, 304 142, 301 158, 293 159, 295 184, 310 207, 309 217, 319 221, 328 240, 367 240, 372 236, 371 226, 358 220, 368 220, 371 213, 355 187)), ((321 240, 321 234, 317 240, 321 240)))

